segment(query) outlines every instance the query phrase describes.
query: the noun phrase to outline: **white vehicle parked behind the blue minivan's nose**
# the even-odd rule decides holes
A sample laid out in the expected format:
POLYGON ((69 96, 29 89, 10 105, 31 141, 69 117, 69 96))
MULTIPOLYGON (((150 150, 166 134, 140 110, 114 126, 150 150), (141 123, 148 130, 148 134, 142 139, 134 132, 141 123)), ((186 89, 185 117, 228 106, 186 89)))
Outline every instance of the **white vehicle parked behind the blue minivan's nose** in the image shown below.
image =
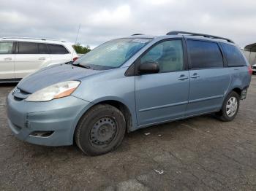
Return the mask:
POLYGON ((0 82, 18 82, 45 66, 75 61, 71 43, 47 39, 0 38, 0 82))

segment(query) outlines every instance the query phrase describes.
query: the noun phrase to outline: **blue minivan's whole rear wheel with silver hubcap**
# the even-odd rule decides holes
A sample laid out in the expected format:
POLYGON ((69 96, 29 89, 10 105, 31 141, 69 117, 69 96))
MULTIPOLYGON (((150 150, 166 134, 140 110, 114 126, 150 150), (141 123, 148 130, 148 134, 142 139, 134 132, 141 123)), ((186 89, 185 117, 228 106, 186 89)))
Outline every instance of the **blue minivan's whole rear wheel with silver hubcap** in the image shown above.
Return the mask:
POLYGON ((231 92, 225 98, 222 110, 217 112, 217 117, 222 121, 232 121, 238 112, 240 104, 240 96, 236 92, 231 92))

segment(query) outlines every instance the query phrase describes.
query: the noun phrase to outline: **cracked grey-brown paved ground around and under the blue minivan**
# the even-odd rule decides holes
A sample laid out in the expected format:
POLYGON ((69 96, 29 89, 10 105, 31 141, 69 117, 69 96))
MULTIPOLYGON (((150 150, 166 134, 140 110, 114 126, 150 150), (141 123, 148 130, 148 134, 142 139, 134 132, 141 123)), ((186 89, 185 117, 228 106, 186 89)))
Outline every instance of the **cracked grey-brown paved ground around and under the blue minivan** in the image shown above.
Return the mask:
POLYGON ((206 115, 145 128, 99 157, 12 136, 12 88, 0 86, 0 190, 256 190, 256 76, 233 122, 206 115))

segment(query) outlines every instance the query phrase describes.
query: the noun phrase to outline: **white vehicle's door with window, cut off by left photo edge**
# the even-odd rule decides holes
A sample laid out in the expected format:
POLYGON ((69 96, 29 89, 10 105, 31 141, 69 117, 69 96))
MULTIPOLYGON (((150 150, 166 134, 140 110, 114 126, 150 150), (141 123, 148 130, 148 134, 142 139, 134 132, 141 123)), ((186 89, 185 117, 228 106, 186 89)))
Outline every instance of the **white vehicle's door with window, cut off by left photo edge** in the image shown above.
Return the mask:
POLYGON ((13 42, 0 42, 0 81, 15 78, 13 42))

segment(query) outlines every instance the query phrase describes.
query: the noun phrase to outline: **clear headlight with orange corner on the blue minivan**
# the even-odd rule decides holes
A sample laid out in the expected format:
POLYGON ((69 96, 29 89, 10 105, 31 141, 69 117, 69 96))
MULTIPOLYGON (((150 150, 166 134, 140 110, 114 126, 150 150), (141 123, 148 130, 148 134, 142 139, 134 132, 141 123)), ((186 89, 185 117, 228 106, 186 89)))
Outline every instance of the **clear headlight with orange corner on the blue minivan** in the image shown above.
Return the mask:
POLYGON ((79 84, 80 82, 78 81, 67 81, 50 85, 32 93, 25 101, 50 101, 56 98, 63 98, 71 95, 79 84))

